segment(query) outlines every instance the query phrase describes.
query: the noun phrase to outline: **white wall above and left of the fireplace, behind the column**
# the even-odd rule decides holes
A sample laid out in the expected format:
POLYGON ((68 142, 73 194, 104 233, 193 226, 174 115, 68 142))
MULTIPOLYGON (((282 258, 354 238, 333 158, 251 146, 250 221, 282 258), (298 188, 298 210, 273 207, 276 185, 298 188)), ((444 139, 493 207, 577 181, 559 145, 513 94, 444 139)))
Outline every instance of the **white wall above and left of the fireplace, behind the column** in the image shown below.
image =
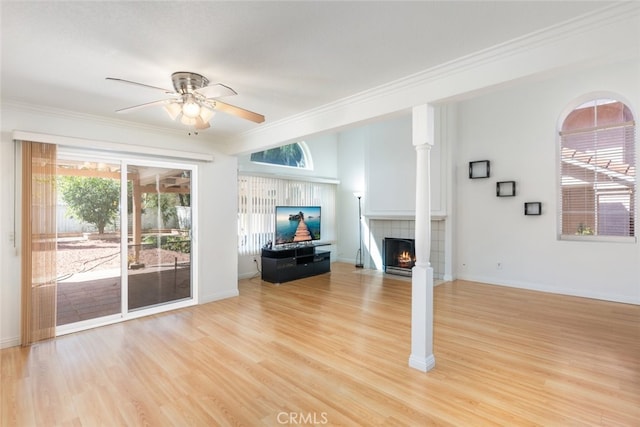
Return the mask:
MULTIPOLYGON (((447 120, 441 120, 443 114, 447 112, 438 110, 438 123, 449 126, 447 120)), ((447 152, 445 145, 448 144, 448 134, 437 132, 437 140, 431 150, 432 215, 437 215, 440 219, 447 216, 448 190, 445 178, 449 167, 448 158, 443 153, 447 152)), ((359 248, 358 201, 353 193, 359 191, 364 193, 362 214, 365 267, 380 267, 370 256, 372 259, 380 258, 379 240, 384 236, 374 235, 371 221, 413 222, 415 217, 416 150, 412 141, 411 114, 387 117, 340 132, 338 170, 340 222, 337 258, 344 262, 355 261, 359 248)), ((448 261, 446 263, 449 264, 448 261)), ((450 277, 449 270, 443 267, 442 272, 450 277)))

